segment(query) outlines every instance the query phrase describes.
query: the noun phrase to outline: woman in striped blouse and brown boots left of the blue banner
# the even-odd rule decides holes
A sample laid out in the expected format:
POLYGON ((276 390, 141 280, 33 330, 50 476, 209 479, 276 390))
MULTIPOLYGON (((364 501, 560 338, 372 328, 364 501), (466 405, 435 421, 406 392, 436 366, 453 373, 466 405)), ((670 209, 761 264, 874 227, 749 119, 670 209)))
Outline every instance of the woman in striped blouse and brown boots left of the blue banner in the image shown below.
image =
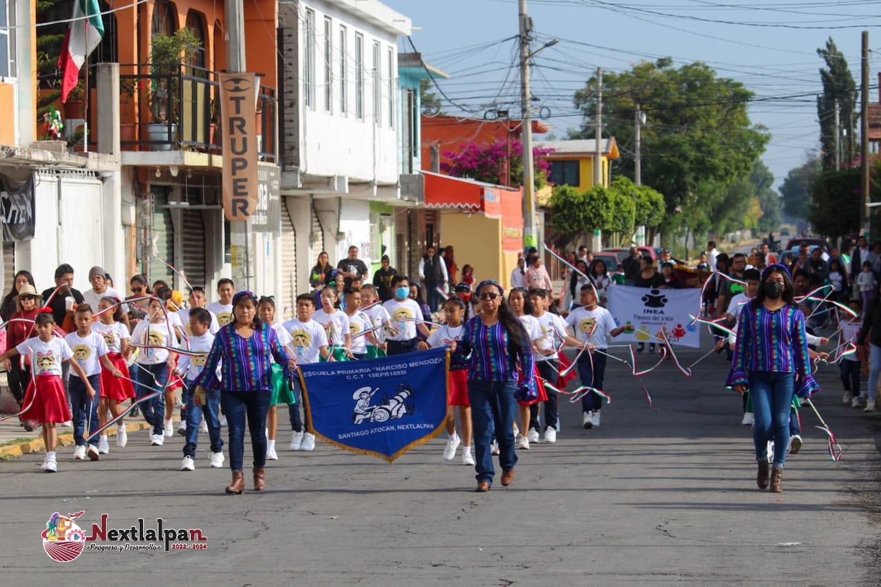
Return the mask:
POLYGON ((276 331, 257 316, 257 299, 251 292, 233 296, 233 322, 221 328, 205 360, 196 385, 220 389, 220 404, 229 422, 229 464, 233 483, 227 494, 241 494, 245 478, 241 472, 245 452, 245 420, 254 450, 254 489, 263 491, 266 480, 266 412, 272 395, 272 360, 285 369, 290 379, 297 368, 278 342, 276 331), (217 370, 221 376, 218 381, 217 370))

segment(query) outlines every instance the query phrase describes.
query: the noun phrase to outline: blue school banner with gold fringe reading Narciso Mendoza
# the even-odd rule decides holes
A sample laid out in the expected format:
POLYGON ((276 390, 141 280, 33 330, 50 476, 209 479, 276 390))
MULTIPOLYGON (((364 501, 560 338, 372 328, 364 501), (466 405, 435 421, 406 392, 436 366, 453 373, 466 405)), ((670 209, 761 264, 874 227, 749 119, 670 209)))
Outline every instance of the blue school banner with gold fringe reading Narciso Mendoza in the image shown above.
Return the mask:
POLYGON ((316 436, 393 463, 441 432, 447 419, 447 350, 300 365, 316 436))

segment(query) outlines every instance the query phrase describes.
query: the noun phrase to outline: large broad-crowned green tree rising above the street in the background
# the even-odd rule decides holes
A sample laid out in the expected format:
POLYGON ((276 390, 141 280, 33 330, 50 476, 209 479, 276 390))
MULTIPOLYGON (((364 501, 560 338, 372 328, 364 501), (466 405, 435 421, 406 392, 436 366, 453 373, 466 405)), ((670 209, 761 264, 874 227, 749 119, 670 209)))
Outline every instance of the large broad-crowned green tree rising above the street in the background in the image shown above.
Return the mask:
MULTIPOLYGON (((595 136, 596 78, 575 93, 583 124, 574 138, 595 136)), ((747 177, 769 139, 747 112, 753 93, 738 81, 720 78, 706 63, 673 67, 670 57, 643 61, 631 70, 603 75, 606 133, 633 143, 637 107, 648 115, 642 127, 642 180, 663 194, 665 233, 718 228, 714 212, 724 210, 713 195, 719 186, 747 177)), ((622 162, 633 177, 633 161, 622 162)))

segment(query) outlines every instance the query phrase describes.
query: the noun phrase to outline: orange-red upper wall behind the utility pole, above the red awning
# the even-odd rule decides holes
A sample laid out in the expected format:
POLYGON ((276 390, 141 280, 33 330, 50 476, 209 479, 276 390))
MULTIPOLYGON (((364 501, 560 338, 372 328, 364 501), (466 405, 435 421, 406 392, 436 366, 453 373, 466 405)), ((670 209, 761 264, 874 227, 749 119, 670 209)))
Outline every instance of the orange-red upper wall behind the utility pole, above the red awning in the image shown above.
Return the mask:
MULTIPOLYGON (((422 116, 422 168, 431 170, 431 145, 440 145, 441 164, 449 163, 445 151, 460 151, 461 145, 478 143, 492 145, 498 140, 515 141, 520 138, 520 121, 485 121, 455 116, 422 116)), ((542 123, 533 121, 533 134, 547 132, 542 123)))

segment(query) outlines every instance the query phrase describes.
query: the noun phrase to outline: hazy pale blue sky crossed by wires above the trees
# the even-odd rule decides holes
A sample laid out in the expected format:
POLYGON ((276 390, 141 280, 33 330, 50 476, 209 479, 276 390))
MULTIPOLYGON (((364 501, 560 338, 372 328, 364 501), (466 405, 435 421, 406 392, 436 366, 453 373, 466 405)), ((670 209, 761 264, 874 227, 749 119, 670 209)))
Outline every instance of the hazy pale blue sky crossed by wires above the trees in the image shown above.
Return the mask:
MULTIPOLYGON (((483 117, 488 109, 519 113, 517 0, 384 0, 410 17, 412 41, 426 62, 447 71, 441 87, 455 105, 483 117)), ((679 65, 703 61, 720 76, 737 79, 756 101, 754 123, 772 133, 762 160, 779 186, 791 167, 818 149, 816 94, 821 92, 817 48, 832 36, 859 87, 860 35, 881 52, 881 0, 529 0, 540 47, 552 38, 532 70, 537 108, 546 107, 562 138, 578 126, 576 89, 602 67, 629 69, 642 59, 670 56, 679 65)), ((412 50, 406 40, 402 50, 412 50)), ((877 101, 881 56, 870 53, 870 100, 877 101)), ((651 124, 651 119, 648 119, 651 124)), ((633 145, 619 145, 622 155, 633 145)))

